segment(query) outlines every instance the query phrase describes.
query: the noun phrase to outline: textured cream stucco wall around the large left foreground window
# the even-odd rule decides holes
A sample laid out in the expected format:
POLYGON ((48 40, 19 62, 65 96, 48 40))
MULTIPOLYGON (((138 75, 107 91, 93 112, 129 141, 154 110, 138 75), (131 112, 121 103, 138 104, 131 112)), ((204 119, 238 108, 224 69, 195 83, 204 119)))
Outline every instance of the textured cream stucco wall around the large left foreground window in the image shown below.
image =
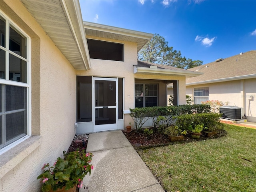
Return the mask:
POLYGON ((32 44, 32 137, 0 156, 0 191, 36 192, 43 164, 53 164, 74 138, 76 75, 20 1, 1 1, 0 8, 32 44))

